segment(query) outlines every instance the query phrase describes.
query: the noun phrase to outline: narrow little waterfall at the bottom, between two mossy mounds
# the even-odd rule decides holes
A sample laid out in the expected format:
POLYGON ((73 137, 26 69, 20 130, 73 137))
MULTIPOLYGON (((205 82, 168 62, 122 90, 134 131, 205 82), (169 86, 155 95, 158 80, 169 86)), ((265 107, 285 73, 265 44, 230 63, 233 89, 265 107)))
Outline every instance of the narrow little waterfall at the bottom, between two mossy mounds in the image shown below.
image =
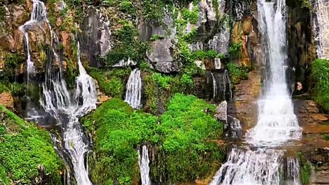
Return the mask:
POLYGON ((151 185, 149 179, 149 152, 146 145, 143 146, 142 152, 138 150, 138 164, 141 171, 142 185, 151 185))

